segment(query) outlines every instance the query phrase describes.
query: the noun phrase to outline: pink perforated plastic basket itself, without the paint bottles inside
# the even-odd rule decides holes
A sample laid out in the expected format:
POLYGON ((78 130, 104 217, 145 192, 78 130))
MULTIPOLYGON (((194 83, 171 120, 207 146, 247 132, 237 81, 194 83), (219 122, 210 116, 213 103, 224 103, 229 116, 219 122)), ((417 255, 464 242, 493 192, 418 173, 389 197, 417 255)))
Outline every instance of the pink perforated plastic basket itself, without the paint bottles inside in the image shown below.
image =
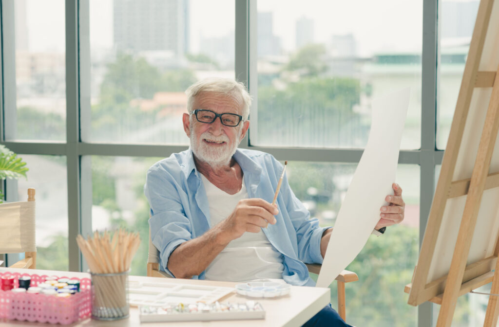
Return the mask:
MULTIPOLYGON (((18 287, 21 276, 31 277, 30 286, 37 286, 45 281, 47 275, 0 273, 14 277, 14 288, 18 287)), ((61 276, 59 278, 67 278, 61 276)), ((68 298, 53 295, 14 293, 0 290, 0 319, 39 322, 49 324, 71 324, 77 320, 90 317, 92 312, 90 302, 89 278, 71 278, 80 281, 80 292, 68 298)))

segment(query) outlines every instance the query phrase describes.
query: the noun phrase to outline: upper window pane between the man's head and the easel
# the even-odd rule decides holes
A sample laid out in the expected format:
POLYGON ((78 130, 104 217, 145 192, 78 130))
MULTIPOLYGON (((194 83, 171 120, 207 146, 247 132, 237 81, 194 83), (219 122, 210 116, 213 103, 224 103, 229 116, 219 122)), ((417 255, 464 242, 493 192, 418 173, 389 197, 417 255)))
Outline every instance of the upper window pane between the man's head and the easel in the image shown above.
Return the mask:
POLYGON ((418 149, 422 8, 421 0, 258 1, 251 144, 363 148, 372 99, 411 87, 402 149, 418 149))

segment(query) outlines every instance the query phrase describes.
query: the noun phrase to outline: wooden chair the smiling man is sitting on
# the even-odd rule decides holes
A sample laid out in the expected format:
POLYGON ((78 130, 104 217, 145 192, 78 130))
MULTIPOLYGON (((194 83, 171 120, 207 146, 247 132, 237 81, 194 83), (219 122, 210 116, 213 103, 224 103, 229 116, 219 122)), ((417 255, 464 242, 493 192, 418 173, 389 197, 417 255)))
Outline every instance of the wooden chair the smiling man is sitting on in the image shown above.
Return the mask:
MULTIPOLYGON (((321 265, 306 264, 308 271, 313 274, 319 274, 321 265)), ((159 251, 154 246, 151 239, 151 228, 149 228, 149 255, 147 257, 147 276, 149 277, 166 277, 171 278, 168 273, 159 269, 159 251)), ((343 270, 336 277, 338 283, 338 314, 343 320, 346 320, 346 300, 345 300, 345 283, 358 281, 359 277, 356 273, 343 270)))

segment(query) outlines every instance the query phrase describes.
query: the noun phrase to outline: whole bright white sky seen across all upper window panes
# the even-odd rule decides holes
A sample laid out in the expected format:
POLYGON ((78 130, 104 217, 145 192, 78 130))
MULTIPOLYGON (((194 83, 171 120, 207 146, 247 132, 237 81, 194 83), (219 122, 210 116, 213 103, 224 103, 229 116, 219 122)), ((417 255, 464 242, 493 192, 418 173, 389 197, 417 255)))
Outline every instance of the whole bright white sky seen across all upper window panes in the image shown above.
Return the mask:
MULTIPOLYGON (((459 1, 459 0, 458 0, 459 1)), ((199 51, 201 37, 227 35, 234 30, 234 0, 191 0, 191 49, 199 51), (212 12, 208 15, 207 13, 212 12)), ((113 42, 113 1, 89 0, 92 48, 113 42)), ((260 0, 258 11, 273 12, 273 33, 285 49, 295 43, 295 22, 314 20, 314 41, 330 42, 333 34, 352 33, 358 54, 421 51, 423 0, 260 0)), ((30 51, 64 51, 64 0, 26 0, 30 51)))

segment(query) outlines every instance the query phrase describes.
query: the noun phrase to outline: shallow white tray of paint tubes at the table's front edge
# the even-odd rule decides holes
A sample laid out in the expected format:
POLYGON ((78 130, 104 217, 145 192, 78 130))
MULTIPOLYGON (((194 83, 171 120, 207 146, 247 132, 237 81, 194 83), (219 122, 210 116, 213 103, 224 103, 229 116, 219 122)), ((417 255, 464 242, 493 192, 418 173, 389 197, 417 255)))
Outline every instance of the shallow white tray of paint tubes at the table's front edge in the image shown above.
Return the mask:
POLYGON ((265 319, 265 311, 255 301, 170 303, 163 306, 140 306, 139 319, 141 323, 265 319))

